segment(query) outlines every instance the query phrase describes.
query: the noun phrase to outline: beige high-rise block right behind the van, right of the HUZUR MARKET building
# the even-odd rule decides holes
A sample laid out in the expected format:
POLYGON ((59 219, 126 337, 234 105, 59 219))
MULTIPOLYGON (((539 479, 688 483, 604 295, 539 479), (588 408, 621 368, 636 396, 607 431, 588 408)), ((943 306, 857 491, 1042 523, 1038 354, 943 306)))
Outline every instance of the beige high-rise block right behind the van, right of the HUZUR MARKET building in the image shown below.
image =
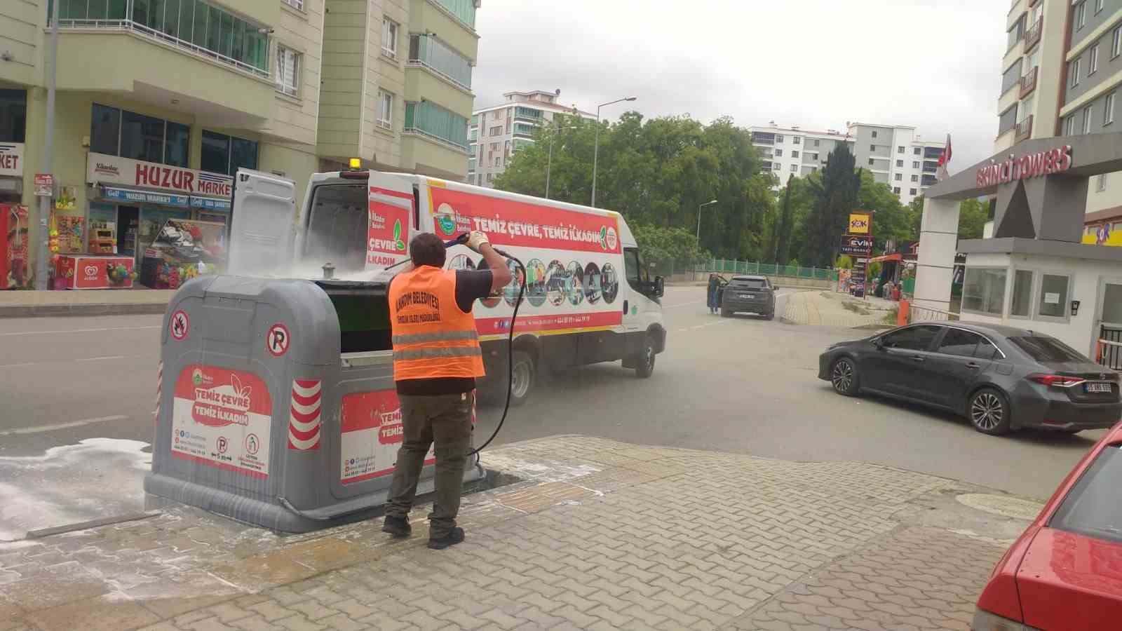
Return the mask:
POLYGON ((465 179, 479 0, 325 0, 318 153, 465 179))

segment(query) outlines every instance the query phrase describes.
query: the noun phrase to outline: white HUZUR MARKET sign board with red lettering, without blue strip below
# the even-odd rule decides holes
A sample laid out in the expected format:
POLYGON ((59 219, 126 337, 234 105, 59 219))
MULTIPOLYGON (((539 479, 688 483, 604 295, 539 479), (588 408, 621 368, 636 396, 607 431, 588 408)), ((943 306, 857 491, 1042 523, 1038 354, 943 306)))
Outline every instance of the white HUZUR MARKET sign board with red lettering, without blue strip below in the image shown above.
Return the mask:
POLYGON ((85 181, 91 184, 123 184, 217 198, 233 196, 233 177, 229 175, 93 152, 86 157, 85 181))

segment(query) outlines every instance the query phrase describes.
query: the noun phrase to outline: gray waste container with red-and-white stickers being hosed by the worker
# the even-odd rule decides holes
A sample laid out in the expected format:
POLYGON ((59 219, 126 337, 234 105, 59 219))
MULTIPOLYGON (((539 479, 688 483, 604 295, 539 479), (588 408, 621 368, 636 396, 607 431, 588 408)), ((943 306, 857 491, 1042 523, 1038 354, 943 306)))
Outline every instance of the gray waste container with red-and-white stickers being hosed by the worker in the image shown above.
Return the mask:
MULTIPOLYGON (((149 505, 307 532, 386 502, 403 432, 385 283, 193 278, 160 357, 149 505)), ((482 476, 471 459, 465 482, 482 476)))

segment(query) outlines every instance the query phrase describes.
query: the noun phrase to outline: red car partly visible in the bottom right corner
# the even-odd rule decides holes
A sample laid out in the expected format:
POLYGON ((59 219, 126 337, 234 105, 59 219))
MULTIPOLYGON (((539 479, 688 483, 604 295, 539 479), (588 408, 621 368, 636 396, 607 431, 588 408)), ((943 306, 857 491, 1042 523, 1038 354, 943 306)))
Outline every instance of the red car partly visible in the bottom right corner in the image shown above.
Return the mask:
POLYGON ((972 629, 1122 629, 1122 423, 997 561, 972 629))

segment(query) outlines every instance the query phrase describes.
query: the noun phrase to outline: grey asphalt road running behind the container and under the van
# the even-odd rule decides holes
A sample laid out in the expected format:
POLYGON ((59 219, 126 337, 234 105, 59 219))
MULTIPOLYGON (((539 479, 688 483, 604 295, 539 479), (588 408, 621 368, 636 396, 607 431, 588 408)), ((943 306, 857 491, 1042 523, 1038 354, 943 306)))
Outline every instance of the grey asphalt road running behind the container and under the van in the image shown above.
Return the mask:
MULTIPOLYGON (((818 355, 867 331, 710 316, 705 287, 668 287, 663 304, 668 349, 650 379, 618 364, 549 375, 530 404, 511 412, 497 442, 586 433, 794 460, 864 460, 1045 499, 1101 436, 994 438, 950 414, 838 396, 817 379, 818 355)), ((158 316, 0 319, 0 539, 4 520, 11 531, 13 520, 20 528, 57 525, 40 522, 96 512, 99 502, 77 491, 79 482, 140 493, 159 328, 158 316), (48 465, 55 474, 43 473, 48 465), (29 504, 27 492, 46 487, 58 516, 28 518, 46 509, 29 504), (11 497, 25 497, 24 506, 6 512, 11 497), (89 510, 64 510, 80 500, 89 510)), ((480 410, 480 437, 498 412, 480 410)))

